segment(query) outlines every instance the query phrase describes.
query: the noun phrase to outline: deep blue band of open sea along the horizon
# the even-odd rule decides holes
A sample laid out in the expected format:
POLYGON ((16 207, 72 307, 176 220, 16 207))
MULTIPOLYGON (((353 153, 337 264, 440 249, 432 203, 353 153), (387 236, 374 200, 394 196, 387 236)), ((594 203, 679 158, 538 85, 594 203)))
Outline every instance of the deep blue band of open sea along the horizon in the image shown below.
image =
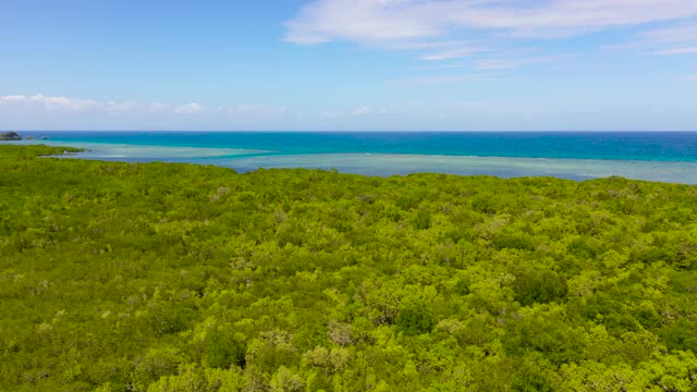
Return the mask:
POLYGON ((57 142, 227 147, 282 155, 368 152, 697 161, 697 132, 53 132, 49 135, 57 142))

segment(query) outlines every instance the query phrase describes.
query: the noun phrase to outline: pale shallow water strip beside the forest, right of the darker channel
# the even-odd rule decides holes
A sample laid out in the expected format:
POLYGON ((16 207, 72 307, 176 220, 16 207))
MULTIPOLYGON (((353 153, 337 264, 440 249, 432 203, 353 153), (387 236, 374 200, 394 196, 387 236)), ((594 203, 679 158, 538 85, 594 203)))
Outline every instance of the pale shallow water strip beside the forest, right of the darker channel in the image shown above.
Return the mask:
POLYGON ((322 154, 215 159, 211 163, 241 171, 257 168, 335 168, 341 172, 368 175, 435 172, 501 177, 543 175, 572 180, 620 175, 627 179, 697 184, 697 162, 322 154))

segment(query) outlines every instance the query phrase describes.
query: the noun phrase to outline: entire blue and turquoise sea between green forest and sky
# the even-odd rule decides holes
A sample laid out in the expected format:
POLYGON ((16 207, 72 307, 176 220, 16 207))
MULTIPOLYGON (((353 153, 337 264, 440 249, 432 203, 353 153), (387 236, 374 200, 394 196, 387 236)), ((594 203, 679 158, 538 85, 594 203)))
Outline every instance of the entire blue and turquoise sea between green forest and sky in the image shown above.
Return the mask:
MULTIPOLYGON (((26 135, 32 133, 25 133, 26 135)), ((82 158, 258 168, 335 168, 368 175, 629 179, 697 184, 697 133, 56 132, 82 158)), ((29 143, 29 142, 22 142, 29 143)), ((36 143, 36 142, 33 142, 36 143)))

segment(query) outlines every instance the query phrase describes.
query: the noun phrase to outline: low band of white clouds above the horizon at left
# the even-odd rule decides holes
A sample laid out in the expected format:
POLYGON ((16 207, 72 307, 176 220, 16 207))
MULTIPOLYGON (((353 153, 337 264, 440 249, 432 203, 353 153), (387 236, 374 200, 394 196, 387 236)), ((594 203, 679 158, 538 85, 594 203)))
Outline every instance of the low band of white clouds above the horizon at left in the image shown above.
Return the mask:
MULTIPOLYGON (((204 106, 98 100, 69 96, 0 95, 4 126, 42 130, 278 130, 298 113, 273 105, 204 106)), ((308 119, 319 121, 319 114, 308 119)))

